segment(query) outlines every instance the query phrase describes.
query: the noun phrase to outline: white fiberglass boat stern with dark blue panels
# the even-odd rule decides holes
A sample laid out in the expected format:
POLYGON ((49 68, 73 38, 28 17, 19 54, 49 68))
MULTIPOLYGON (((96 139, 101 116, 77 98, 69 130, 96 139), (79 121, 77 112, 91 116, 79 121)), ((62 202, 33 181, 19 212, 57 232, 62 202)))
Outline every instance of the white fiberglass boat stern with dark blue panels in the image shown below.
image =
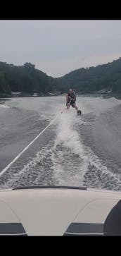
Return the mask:
POLYGON ((103 224, 120 199, 121 192, 108 190, 63 187, 0 190, 0 234, 103 235, 103 224))

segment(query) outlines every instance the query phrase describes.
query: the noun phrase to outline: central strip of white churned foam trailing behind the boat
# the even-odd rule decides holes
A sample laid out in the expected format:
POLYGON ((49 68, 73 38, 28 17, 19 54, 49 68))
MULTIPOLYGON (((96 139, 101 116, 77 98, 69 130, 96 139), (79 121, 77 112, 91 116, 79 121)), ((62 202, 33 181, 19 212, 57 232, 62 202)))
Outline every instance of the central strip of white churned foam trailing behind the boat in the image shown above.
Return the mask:
POLYGON ((75 109, 65 111, 58 119, 55 149, 60 147, 57 156, 53 152, 53 170, 60 185, 82 185, 88 168, 88 157, 75 130, 75 123, 81 122, 75 109), (62 147, 62 150, 61 150, 62 147), (64 152, 65 151, 65 152, 64 152), (78 156, 75 159, 75 156, 78 156), (66 159, 67 158, 67 159, 66 159))

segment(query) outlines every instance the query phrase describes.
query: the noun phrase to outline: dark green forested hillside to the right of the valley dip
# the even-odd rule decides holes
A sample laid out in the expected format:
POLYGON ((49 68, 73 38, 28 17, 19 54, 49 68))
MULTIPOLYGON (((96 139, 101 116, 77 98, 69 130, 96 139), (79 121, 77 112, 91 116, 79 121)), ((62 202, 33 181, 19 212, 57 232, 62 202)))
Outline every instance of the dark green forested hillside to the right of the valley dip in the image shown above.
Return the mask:
POLYGON ((121 93, 121 58, 96 67, 79 68, 56 78, 56 82, 61 92, 66 92, 72 87, 81 93, 98 92, 103 89, 121 93))

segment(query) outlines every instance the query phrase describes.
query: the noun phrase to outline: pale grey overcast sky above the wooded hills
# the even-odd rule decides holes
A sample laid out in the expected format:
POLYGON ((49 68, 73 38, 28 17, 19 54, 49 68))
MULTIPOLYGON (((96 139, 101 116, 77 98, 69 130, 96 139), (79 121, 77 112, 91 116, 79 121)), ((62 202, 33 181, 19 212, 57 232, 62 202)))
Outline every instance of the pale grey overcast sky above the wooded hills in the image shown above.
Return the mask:
POLYGON ((59 77, 121 56, 121 20, 0 20, 0 61, 59 77))

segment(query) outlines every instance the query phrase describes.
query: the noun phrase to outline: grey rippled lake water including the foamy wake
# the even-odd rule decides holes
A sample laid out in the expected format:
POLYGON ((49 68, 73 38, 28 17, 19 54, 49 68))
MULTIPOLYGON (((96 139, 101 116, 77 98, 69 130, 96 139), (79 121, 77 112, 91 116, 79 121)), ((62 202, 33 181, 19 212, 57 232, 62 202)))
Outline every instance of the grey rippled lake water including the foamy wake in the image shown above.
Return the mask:
MULTIPOLYGON (((121 190, 121 101, 77 97, 0 177, 0 188, 72 185, 121 190)), ((0 105, 0 171, 65 107, 65 96, 12 98, 0 105)))

